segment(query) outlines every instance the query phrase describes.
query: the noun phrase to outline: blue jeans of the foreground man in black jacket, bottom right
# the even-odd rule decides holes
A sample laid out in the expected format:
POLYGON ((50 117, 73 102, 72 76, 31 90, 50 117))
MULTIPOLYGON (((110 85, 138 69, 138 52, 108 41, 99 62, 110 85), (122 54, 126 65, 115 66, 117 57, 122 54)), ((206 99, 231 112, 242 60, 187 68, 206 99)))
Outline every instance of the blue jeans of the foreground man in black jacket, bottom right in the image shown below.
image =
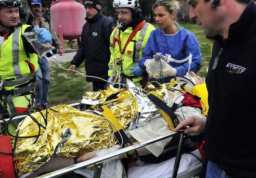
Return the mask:
POLYGON ((231 178, 227 173, 220 169, 217 164, 208 161, 206 168, 206 178, 231 178))

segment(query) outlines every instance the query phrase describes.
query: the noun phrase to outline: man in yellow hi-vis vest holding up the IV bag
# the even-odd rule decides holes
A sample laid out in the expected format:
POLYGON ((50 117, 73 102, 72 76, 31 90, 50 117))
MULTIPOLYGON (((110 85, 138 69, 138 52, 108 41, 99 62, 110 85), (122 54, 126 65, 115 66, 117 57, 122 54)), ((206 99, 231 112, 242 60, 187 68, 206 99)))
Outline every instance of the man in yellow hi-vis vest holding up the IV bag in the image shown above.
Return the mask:
MULTIPOLYGON (((0 92, 2 111, 13 116, 28 111, 35 93, 35 73, 38 69, 37 54, 26 41, 24 32, 32 32, 33 27, 20 25, 20 0, 0 0, 0 92)), ((38 43, 52 43, 50 32, 39 29, 38 43)))

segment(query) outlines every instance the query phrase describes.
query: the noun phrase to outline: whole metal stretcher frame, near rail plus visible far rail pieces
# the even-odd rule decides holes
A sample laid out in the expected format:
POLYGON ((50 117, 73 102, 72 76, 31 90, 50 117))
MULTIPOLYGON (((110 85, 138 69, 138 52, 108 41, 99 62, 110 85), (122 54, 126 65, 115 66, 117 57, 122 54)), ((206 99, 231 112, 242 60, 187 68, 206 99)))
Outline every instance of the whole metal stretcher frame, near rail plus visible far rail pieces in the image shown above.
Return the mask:
MULTIPOLYGON (((73 104, 68 104, 68 106, 74 107, 74 106, 79 106, 81 104, 82 103, 73 103, 73 104)), ((24 119, 25 117, 27 117, 27 115, 17 116, 17 117, 14 117, 12 119, 12 121, 18 120, 18 119, 24 119)), ((5 119, 6 122, 8 122, 8 120, 9 120, 9 118, 5 119)), ((3 123, 2 120, 0 120, 0 124, 1 123, 3 123)), ((101 155, 101 156, 98 156, 98 157, 90 159, 90 160, 79 162, 77 164, 59 169, 57 171, 46 173, 46 174, 41 175, 37 178, 54 178, 54 177, 61 176, 61 175, 64 175, 66 173, 72 172, 76 169, 85 168, 85 167, 87 167, 91 164, 94 164, 94 166, 95 166, 95 171, 94 171, 93 178, 100 178, 101 171, 102 171, 102 168, 103 168, 103 162, 102 161, 107 160, 109 158, 116 157, 118 155, 122 155, 124 153, 129 152, 129 151, 139 149, 139 148, 147 146, 149 144, 159 142, 159 141, 167 139, 169 137, 173 137, 174 135, 177 135, 177 134, 180 134, 180 140, 179 140, 179 146, 178 146, 178 149, 177 149, 177 154, 176 154, 176 158, 175 158, 175 162, 174 162, 174 166, 173 166, 173 173, 172 173, 172 176, 170 178, 190 178, 190 177, 193 177, 193 176, 197 176, 202 170, 202 163, 199 163, 199 164, 195 165, 194 167, 191 167, 190 169, 188 169, 188 170, 186 170, 182 173, 177 174, 178 169, 179 169, 179 163, 180 163, 180 160, 181 160, 182 151, 183 151, 184 137, 185 137, 184 130, 181 130, 181 131, 177 131, 177 132, 173 131, 171 133, 160 135, 160 136, 152 138, 150 140, 141 142, 137 145, 131 145, 131 146, 128 146, 126 148, 120 149, 118 151, 114 151, 114 152, 107 153, 105 155, 101 155)))

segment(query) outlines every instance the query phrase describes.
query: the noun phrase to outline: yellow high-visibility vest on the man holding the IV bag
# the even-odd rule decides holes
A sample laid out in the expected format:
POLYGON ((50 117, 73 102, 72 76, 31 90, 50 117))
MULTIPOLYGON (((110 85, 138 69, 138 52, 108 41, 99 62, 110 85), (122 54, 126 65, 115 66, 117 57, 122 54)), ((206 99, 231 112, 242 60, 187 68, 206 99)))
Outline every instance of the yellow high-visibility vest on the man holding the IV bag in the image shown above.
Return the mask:
POLYGON ((11 90, 16 86, 26 83, 38 70, 37 54, 30 54, 27 58, 21 34, 29 25, 16 27, 14 32, 4 41, 0 49, 0 77, 5 82, 5 90, 11 90), (30 71, 29 65, 32 69, 30 71))

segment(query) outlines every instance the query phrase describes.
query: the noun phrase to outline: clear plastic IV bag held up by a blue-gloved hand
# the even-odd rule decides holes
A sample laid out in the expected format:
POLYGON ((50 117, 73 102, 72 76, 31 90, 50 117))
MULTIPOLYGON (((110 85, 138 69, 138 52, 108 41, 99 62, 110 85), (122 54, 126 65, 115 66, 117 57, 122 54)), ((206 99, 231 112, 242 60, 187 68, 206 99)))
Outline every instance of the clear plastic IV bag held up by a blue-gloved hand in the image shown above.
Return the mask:
POLYGON ((46 56, 46 54, 50 53, 54 59, 54 61, 60 65, 59 61, 57 61, 57 57, 53 54, 52 50, 55 50, 50 43, 37 43, 38 37, 36 35, 37 30, 39 29, 38 25, 34 27, 34 32, 25 32, 23 35, 27 39, 27 41, 32 45, 35 52, 38 54, 39 58, 45 57, 48 61, 50 59, 46 56))

